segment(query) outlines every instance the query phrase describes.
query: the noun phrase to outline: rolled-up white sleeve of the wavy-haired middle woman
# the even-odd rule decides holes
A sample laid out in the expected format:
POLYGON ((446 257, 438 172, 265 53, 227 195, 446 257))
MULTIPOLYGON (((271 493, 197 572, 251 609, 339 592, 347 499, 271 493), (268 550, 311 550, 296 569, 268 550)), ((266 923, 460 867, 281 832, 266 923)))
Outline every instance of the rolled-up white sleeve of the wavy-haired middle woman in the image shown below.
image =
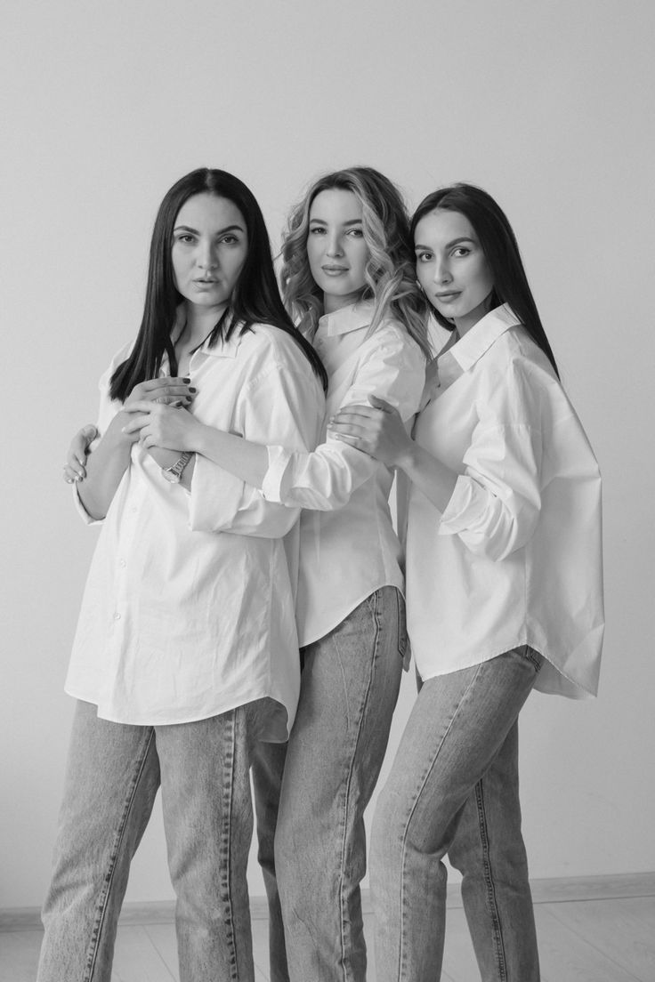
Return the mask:
MULTIPOLYGON (((397 331, 376 343, 374 334, 362 345, 353 384, 338 408, 367 406, 368 397, 377 396, 398 409, 407 422, 418 409, 424 380, 425 359, 409 337, 397 331)), ((267 501, 290 508, 335 511, 380 466, 383 464, 337 440, 328 430, 325 443, 311 454, 269 446, 262 493, 267 501)))

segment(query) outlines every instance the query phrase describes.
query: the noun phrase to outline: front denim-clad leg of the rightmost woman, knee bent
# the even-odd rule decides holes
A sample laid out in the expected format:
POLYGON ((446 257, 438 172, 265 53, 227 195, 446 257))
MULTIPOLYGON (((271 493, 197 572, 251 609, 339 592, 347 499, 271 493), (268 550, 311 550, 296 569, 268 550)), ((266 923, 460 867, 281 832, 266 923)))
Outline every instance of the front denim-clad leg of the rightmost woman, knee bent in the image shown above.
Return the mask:
MULTIPOLYGON (((516 723, 538 664, 521 647, 429 679, 418 693, 373 820, 378 982, 439 978, 446 923, 443 857, 467 799, 516 723)), ((491 978, 532 982, 485 976, 491 978)))

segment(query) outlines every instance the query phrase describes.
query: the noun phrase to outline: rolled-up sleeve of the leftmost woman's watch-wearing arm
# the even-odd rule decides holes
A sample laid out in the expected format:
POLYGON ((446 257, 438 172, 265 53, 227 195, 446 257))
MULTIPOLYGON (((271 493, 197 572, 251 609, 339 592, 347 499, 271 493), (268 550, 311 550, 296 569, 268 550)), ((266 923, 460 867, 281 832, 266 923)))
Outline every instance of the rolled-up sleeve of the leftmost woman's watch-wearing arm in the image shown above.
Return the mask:
MULTIPOLYGON (((253 443, 280 443, 306 453, 315 446, 323 418, 323 393, 317 380, 269 364, 240 396, 239 435, 253 443)), ((292 528, 300 507, 267 500, 218 464, 196 456, 190 492, 190 526, 194 531, 233 532, 280 538, 292 528)))

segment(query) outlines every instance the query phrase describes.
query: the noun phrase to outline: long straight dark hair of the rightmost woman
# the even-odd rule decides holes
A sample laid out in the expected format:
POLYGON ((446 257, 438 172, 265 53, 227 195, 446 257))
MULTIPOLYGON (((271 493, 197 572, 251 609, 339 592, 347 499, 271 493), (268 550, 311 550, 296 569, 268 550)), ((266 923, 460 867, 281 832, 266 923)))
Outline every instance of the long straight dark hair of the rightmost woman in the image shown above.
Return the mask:
MULTIPOLYGON (((421 218, 435 208, 459 211, 468 219, 480 241, 493 277, 492 307, 500 306, 501 303, 510 304, 532 341, 547 355, 559 378, 555 355, 527 283, 517 237, 503 209, 491 194, 481 188, 469 184, 450 185, 448 188, 433 191, 420 202, 411 219, 412 239, 421 218)), ((438 310, 434 310, 434 316, 444 327, 453 329, 452 322, 438 310)))

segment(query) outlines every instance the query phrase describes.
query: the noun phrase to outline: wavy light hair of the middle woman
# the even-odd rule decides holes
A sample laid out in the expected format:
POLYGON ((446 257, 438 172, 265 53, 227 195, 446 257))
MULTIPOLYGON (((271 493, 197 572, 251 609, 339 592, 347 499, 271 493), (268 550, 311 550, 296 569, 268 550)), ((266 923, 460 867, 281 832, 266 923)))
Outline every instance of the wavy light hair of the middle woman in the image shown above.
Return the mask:
POLYGON ((409 218, 401 192, 372 167, 349 167, 315 181, 292 208, 282 245, 282 295, 300 330, 312 332, 323 313, 323 294, 309 269, 309 209, 321 191, 353 191, 361 203, 361 227, 369 258, 360 300, 375 304, 369 333, 387 317, 407 328, 426 358, 432 357, 427 336, 428 304, 416 283, 409 218))

